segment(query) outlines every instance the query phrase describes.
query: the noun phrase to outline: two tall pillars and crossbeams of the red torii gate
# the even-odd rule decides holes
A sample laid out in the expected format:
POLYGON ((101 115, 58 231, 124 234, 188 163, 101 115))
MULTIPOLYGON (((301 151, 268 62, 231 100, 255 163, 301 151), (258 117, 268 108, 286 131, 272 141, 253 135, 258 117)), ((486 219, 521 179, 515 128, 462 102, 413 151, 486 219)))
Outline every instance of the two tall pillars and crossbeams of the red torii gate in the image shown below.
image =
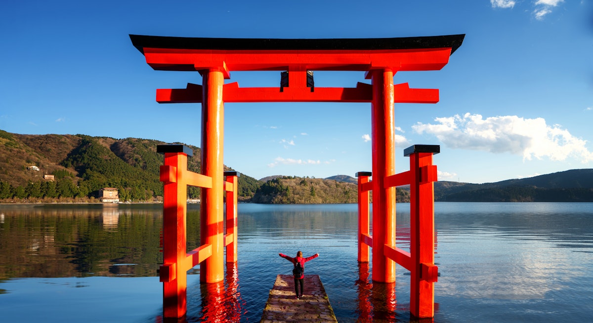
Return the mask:
MULTIPOLYGON (((393 104, 436 103, 439 94, 438 89, 415 89, 410 88, 407 83, 394 85, 393 75, 398 71, 431 71, 443 68, 447 65, 449 56, 461 46, 463 34, 384 39, 215 39, 130 35, 130 39, 153 69, 197 71, 202 75, 202 85, 189 83, 184 89, 157 89, 159 103, 202 103, 201 175, 206 178, 206 183, 203 186, 197 185, 202 187, 202 247, 199 250, 202 250, 203 256, 197 257, 200 261, 201 282, 215 283, 224 279, 224 103, 313 101, 371 103, 373 180, 369 185, 373 191, 372 217, 374 222, 384 225, 374 227, 372 238, 367 235, 364 239, 366 242, 372 240, 374 247, 372 280, 385 283, 395 281, 393 259, 397 257, 393 252, 397 254, 397 250, 390 251, 389 248, 385 248, 386 245, 395 245, 394 186, 401 185, 393 183, 396 176, 393 104), (224 79, 231 78, 231 71, 287 71, 288 82, 281 87, 241 88, 236 82, 224 84, 224 79), (353 88, 318 88, 313 84, 307 84, 310 75, 308 71, 365 71, 365 78, 371 79, 371 84, 359 82, 353 88)), ((183 148, 178 149, 181 149, 181 152, 177 151, 177 155, 184 154, 183 148)), ((416 151, 414 155, 415 153, 416 151)), ((430 154, 432 156, 432 152, 430 154)), ((419 159, 423 159, 424 155, 426 153, 420 153, 419 159)), ((435 175, 435 171, 435 168, 431 168, 431 174, 435 175)), ((433 175, 425 174, 422 178, 430 177, 432 183, 432 180, 436 180, 433 175)), ((416 180, 418 178, 421 178, 420 175, 416 176, 416 180)), ((172 168, 165 167, 165 170, 161 170, 161 180, 165 179, 177 181, 172 168), (163 178, 163 172, 170 175, 163 178)), ((165 181, 165 185, 166 183, 168 182, 165 181)), ((432 196, 430 201, 426 201, 428 202, 432 205, 432 196)), ((184 200, 179 197, 176 203, 184 203, 184 200)), ((416 203, 423 205, 425 202, 416 203)), ((183 207, 177 207, 177 210, 184 212, 183 207)), ((177 213, 177 217, 179 216, 177 213)), ((173 229, 164 228, 164 232, 168 231, 173 229)), ((168 239, 164 236, 164 244, 167 244, 168 239)), ((178 245, 180 242, 178 239, 170 239, 170 244, 178 245)), ((234 240, 236 243, 236 234, 234 240)), ((181 245, 178 248, 181 248, 181 245)), ((196 255, 193 258, 195 259, 196 255)), ((187 260, 182 261, 187 263, 187 260)), ((368 261, 368 257, 365 260, 359 256, 359 261, 368 261)), ((169 270, 162 271, 169 275, 167 279, 163 279, 161 273, 161 280, 165 285, 167 280, 173 282, 179 277, 178 274, 183 273, 180 271, 182 266, 174 266, 178 274, 171 274, 171 266, 173 265, 168 267, 169 270)), ((436 267, 422 268, 431 273, 429 276, 436 277, 436 267)), ((412 272, 415 275, 414 271, 412 272)), ((418 273, 417 277, 422 276, 418 273)), ((185 287, 184 284, 177 285, 177 312, 167 314, 165 310, 165 317, 179 317, 185 314, 185 287)), ((165 301, 174 296, 173 290, 167 295, 165 287, 165 301)), ((431 303, 433 304, 432 300, 431 303)), ((411 311, 412 315, 417 317, 433 316, 433 312, 430 311, 411 311)))

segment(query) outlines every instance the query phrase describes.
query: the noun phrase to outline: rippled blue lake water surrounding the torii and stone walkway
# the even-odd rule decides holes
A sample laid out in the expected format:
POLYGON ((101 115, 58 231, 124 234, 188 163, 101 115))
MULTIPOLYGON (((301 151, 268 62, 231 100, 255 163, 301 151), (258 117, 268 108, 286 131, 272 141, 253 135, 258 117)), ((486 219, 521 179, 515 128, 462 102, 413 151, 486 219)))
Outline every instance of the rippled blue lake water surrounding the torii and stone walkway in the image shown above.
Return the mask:
MULTIPOLYGON (((277 274, 305 257, 339 322, 409 322, 410 276, 374 283, 356 261, 356 204, 238 206, 238 262, 219 284, 188 275, 188 322, 259 322, 277 274), (217 303, 218 305, 213 305, 217 303), (222 305, 220 305, 222 303, 222 305)), ((199 244, 188 212, 188 250, 199 244)), ((397 244, 409 247, 409 204, 397 244)), ((435 322, 589 322, 593 203, 435 203, 435 322)), ((0 205, 0 321, 162 322, 162 206, 0 205)), ((305 286, 306 293, 306 286, 305 286)))

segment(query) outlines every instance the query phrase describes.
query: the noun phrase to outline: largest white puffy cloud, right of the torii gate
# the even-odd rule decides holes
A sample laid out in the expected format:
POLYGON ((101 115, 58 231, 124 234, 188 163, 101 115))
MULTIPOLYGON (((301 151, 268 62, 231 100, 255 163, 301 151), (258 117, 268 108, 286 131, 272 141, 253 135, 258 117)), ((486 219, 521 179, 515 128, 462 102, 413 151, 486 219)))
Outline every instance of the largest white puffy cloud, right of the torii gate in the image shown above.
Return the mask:
POLYGON ((417 133, 435 135, 442 143, 459 149, 514 153, 523 159, 547 157, 563 161, 568 156, 593 161, 593 153, 586 148, 586 140, 570 135, 568 130, 543 118, 524 119, 518 116, 498 116, 483 119, 480 114, 436 118, 437 124, 417 123, 417 133))

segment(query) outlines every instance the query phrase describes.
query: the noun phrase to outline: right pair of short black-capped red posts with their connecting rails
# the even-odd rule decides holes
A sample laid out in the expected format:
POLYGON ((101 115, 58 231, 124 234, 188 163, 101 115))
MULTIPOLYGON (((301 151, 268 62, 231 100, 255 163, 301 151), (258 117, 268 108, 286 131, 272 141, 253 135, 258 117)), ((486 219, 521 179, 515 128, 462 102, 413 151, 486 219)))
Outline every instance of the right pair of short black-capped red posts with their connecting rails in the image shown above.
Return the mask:
MULTIPOLYGON (((410 157, 410 170, 382 177, 382 188, 410 185, 410 252, 395 244, 396 214, 383 220, 382 212, 375 212, 375 189, 380 177, 371 172, 358 172, 358 261, 368 263, 368 248, 372 247, 373 260, 388 258, 410 271, 410 313, 417 318, 434 316, 434 283, 438 280, 435 266, 434 188, 437 180, 436 166, 432 155, 441 151, 438 145, 413 145, 404 150, 410 157), (369 181, 369 177, 373 180, 369 181), (373 191, 373 235, 369 235, 369 191, 373 191), (375 231, 375 222, 390 223, 393 241, 387 242, 385 231, 375 231), (380 246, 381 248, 377 248, 380 246)), ((395 198, 395 194, 393 198, 395 198)), ((373 261, 375 266, 375 261, 373 261)), ((375 271, 373 271, 375 274, 375 271)))

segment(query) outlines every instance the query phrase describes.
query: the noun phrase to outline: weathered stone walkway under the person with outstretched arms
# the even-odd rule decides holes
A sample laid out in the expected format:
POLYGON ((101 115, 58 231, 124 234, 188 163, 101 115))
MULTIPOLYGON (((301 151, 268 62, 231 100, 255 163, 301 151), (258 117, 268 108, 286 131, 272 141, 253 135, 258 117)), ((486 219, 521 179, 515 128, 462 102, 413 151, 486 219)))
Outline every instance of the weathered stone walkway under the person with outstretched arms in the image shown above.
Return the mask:
POLYGON ((292 275, 278 275, 260 322, 337 323, 337 320, 318 275, 305 275, 305 295, 299 299, 295 297, 292 275))

